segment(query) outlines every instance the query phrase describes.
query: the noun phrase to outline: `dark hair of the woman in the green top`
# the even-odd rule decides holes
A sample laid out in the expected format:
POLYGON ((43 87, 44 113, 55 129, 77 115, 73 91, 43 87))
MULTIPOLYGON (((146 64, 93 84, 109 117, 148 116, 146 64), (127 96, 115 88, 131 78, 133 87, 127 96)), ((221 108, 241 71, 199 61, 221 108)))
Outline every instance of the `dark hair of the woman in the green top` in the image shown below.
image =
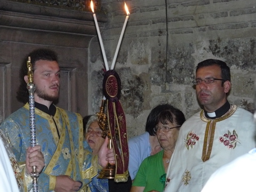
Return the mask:
POLYGON ((185 116, 181 110, 173 107, 168 103, 158 105, 154 107, 148 115, 146 131, 151 136, 154 136, 156 135, 156 133, 154 132, 154 127, 156 127, 158 122, 167 124, 167 121, 170 121, 171 123, 175 122, 177 126, 180 126, 183 124, 183 122, 185 122, 185 116))

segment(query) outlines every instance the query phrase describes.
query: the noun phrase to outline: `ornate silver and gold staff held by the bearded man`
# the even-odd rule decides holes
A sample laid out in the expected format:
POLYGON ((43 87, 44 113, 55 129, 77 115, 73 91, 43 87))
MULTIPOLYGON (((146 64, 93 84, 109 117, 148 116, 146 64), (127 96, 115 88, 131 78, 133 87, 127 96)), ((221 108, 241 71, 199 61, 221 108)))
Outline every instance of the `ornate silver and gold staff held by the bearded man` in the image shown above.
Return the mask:
MULTIPOLYGON (((34 100, 34 93, 35 93, 35 84, 33 81, 33 68, 31 64, 30 57, 28 57, 27 61, 28 67, 28 95, 29 95, 29 120, 30 120, 30 140, 31 140, 31 147, 36 146, 36 123, 35 123, 35 100, 34 100)), ((38 191, 37 186, 37 179, 39 177, 39 173, 36 171, 36 166, 32 167, 33 171, 30 173, 30 177, 33 179, 33 192, 38 191)))

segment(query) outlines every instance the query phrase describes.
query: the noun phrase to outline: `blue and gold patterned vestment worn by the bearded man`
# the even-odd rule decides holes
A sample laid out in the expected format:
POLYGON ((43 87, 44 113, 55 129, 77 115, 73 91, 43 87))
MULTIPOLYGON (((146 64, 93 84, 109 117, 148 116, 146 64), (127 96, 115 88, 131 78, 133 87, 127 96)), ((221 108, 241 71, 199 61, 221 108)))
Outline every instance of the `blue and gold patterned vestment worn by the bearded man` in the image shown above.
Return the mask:
MULTIPOLYGON (((35 121, 36 143, 42 146, 46 165, 38 178, 38 190, 53 191, 57 175, 69 175, 82 181, 85 187, 90 178, 83 179, 82 167, 84 159, 90 162, 92 157, 84 156, 82 117, 58 107, 52 117, 36 108, 35 121)), ((0 129, 10 140, 17 161, 25 162, 26 149, 30 146, 28 103, 10 115, 0 129)))

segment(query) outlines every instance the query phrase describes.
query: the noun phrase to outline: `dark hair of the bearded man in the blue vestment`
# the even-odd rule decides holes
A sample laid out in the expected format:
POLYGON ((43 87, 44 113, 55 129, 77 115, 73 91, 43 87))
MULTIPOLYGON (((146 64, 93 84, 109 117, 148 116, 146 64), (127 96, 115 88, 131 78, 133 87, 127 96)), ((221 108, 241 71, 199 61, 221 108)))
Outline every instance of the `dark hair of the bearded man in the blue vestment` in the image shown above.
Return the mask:
POLYGON ((46 61, 56 61, 58 62, 57 54, 50 49, 36 49, 30 52, 27 57, 24 58, 21 68, 20 68, 20 86, 17 91, 17 99, 20 102, 26 103, 28 102, 28 91, 27 84, 24 81, 24 76, 28 75, 28 67, 27 61, 28 57, 31 59, 31 63, 33 66, 33 71, 35 70, 35 62, 38 60, 46 60, 46 61))

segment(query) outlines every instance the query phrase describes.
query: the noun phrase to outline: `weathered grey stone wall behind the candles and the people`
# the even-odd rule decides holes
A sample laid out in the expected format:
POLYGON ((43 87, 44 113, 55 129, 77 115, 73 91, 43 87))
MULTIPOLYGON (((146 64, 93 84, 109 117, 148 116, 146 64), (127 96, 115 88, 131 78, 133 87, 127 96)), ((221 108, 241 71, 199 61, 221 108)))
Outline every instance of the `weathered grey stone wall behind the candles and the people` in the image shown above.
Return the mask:
MULTIPOLYGON (((167 6, 164 0, 131 0, 126 4, 131 14, 115 70, 121 76, 129 137, 145 131, 150 109, 159 103, 171 103, 186 118, 200 109, 191 81, 197 63, 204 59, 227 62, 232 84, 228 100, 253 110, 254 0, 167 0, 167 6)), ((110 66, 126 14, 123 1, 102 0, 102 7, 108 22, 101 36, 110 66)), ((102 63, 95 36, 89 46, 90 113, 99 111, 101 103, 102 63)))

